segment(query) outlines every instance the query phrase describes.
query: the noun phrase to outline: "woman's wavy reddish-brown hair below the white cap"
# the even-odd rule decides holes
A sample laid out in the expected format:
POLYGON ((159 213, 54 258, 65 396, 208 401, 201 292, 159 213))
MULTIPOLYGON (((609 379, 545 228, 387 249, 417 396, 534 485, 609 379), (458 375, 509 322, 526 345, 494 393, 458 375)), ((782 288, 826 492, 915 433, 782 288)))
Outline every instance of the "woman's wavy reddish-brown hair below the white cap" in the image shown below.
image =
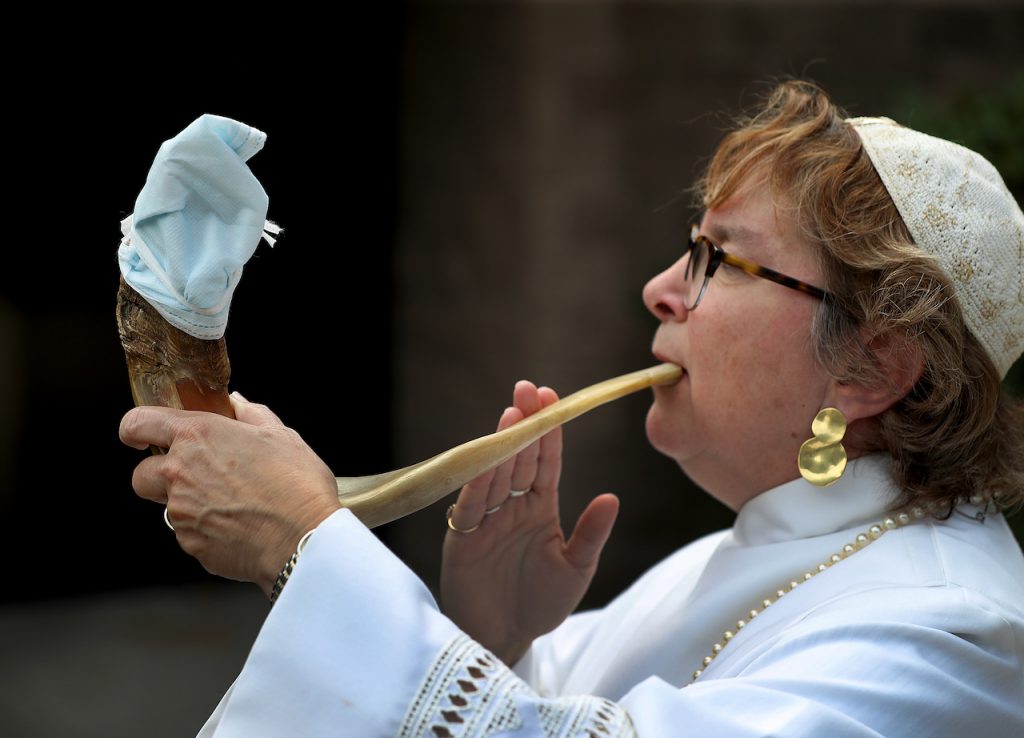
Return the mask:
POLYGON ((1024 406, 1000 390, 949 277, 914 245, 846 118, 816 85, 781 83, 719 145, 695 187, 699 205, 720 206, 751 176, 764 176, 779 207, 794 209, 820 247, 830 297, 812 340, 834 378, 902 391, 880 354, 923 359, 916 384, 872 420, 869 434, 872 449, 893 459, 896 507, 934 503, 948 515, 957 497, 974 495, 1018 507, 1024 406))

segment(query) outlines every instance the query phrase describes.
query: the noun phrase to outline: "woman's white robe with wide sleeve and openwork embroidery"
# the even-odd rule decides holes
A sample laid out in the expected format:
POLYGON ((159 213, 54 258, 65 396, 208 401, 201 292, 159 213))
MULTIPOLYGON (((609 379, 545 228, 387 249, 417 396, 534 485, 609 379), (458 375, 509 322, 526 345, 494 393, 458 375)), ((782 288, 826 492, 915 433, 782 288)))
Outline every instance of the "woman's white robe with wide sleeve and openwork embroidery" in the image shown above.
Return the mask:
POLYGON ((514 671, 340 511, 200 735, 1024 736, 1024 558, 1000 515, 962 506, 816 573, 892 493, 879 457, 833 487, 768 490, 514 671))

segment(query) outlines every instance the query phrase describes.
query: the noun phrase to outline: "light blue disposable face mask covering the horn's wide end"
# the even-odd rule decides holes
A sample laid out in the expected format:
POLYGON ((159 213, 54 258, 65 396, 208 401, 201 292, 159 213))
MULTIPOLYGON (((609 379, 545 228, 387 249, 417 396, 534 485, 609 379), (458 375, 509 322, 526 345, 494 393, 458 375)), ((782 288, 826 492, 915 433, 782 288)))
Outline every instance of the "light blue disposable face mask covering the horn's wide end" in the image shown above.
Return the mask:
POLYGON ((201 339, 224 335, 242 267, 264 233, 269 201, 246 165, 266 134, 204 115, 164 141, 121 222, 121 273, 171 324, 201 339))

